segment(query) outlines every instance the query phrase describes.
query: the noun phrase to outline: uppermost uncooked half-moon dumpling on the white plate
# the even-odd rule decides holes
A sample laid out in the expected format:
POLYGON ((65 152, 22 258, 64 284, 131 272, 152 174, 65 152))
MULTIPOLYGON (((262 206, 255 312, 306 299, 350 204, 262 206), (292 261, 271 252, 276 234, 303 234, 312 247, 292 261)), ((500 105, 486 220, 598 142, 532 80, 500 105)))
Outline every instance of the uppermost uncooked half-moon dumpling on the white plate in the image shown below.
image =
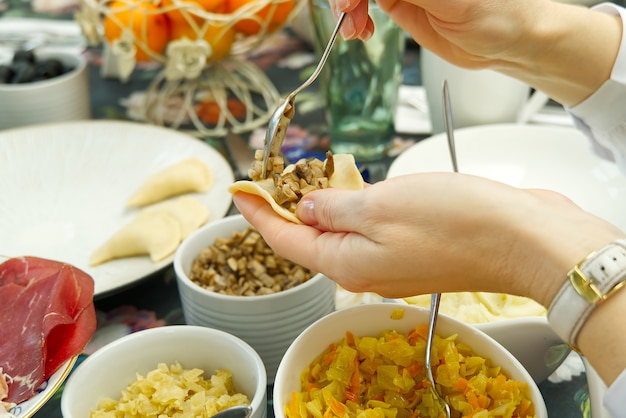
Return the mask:
POLYGON ((150 176, 126 204, 145 206, 184 193, 204 193, 212 185, 209 167, 197 158, 188 158, 150 176))

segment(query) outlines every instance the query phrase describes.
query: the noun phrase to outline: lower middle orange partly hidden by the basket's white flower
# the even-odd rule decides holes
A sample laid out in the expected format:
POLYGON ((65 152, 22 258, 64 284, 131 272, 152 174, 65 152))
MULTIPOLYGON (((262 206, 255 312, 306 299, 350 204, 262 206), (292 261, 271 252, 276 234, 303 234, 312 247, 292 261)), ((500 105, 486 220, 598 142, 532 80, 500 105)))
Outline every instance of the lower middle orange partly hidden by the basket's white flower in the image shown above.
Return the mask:
POLYGON ((236 36, 237 32, 232 26, 206 23, 206 29, 204 25, 199 25, 198 32, 196 32, 195 28, 186 21, 172 22, 171 39, 173 41, 182 38, 195 41, 201 38, 211 46, 211 55, 207 61, 217 61, 226 57, 230 53, 236 36))

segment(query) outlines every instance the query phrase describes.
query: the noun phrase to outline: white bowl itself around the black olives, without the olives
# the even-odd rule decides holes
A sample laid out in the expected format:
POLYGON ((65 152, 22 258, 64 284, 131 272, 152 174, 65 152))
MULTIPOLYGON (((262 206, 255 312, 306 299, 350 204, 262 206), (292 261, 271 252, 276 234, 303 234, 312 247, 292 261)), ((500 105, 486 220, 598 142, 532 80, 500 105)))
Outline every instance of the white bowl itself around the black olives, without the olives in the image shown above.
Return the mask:
POLYGON ((41 52, 72 70, 48 80, 0 84, 0 129, 91 118, 87 61, 81 55, 41 52))

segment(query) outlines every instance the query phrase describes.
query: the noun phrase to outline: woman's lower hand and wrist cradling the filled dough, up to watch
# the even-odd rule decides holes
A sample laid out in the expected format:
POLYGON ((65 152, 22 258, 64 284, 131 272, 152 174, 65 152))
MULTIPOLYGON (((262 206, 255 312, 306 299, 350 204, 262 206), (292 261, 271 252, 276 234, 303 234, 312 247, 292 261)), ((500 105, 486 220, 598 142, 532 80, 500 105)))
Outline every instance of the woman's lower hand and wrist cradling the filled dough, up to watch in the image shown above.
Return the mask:
POLYGON ((309 193, 296 212, 306 225, 234 200, 278 254, 386 297, 493 291, 549 304, 572 265, 622 235, 559 194, 452 173, 309 193))

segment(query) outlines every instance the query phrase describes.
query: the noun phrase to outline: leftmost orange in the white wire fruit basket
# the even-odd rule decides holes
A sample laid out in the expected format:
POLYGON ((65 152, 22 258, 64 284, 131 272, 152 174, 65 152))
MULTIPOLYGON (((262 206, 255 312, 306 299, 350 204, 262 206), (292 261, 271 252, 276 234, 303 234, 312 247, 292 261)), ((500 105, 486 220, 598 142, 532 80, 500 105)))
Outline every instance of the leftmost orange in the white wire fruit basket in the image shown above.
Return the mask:
POLYGON ((114 1, 104 17, 104 36, 113 42, 122 36, 124 28, 130 28, 135 38, 139 62, 149 61, 149 52, 161 54, 170 39, 170 23, 165 14, 153 3, 145 1, 114 1))

